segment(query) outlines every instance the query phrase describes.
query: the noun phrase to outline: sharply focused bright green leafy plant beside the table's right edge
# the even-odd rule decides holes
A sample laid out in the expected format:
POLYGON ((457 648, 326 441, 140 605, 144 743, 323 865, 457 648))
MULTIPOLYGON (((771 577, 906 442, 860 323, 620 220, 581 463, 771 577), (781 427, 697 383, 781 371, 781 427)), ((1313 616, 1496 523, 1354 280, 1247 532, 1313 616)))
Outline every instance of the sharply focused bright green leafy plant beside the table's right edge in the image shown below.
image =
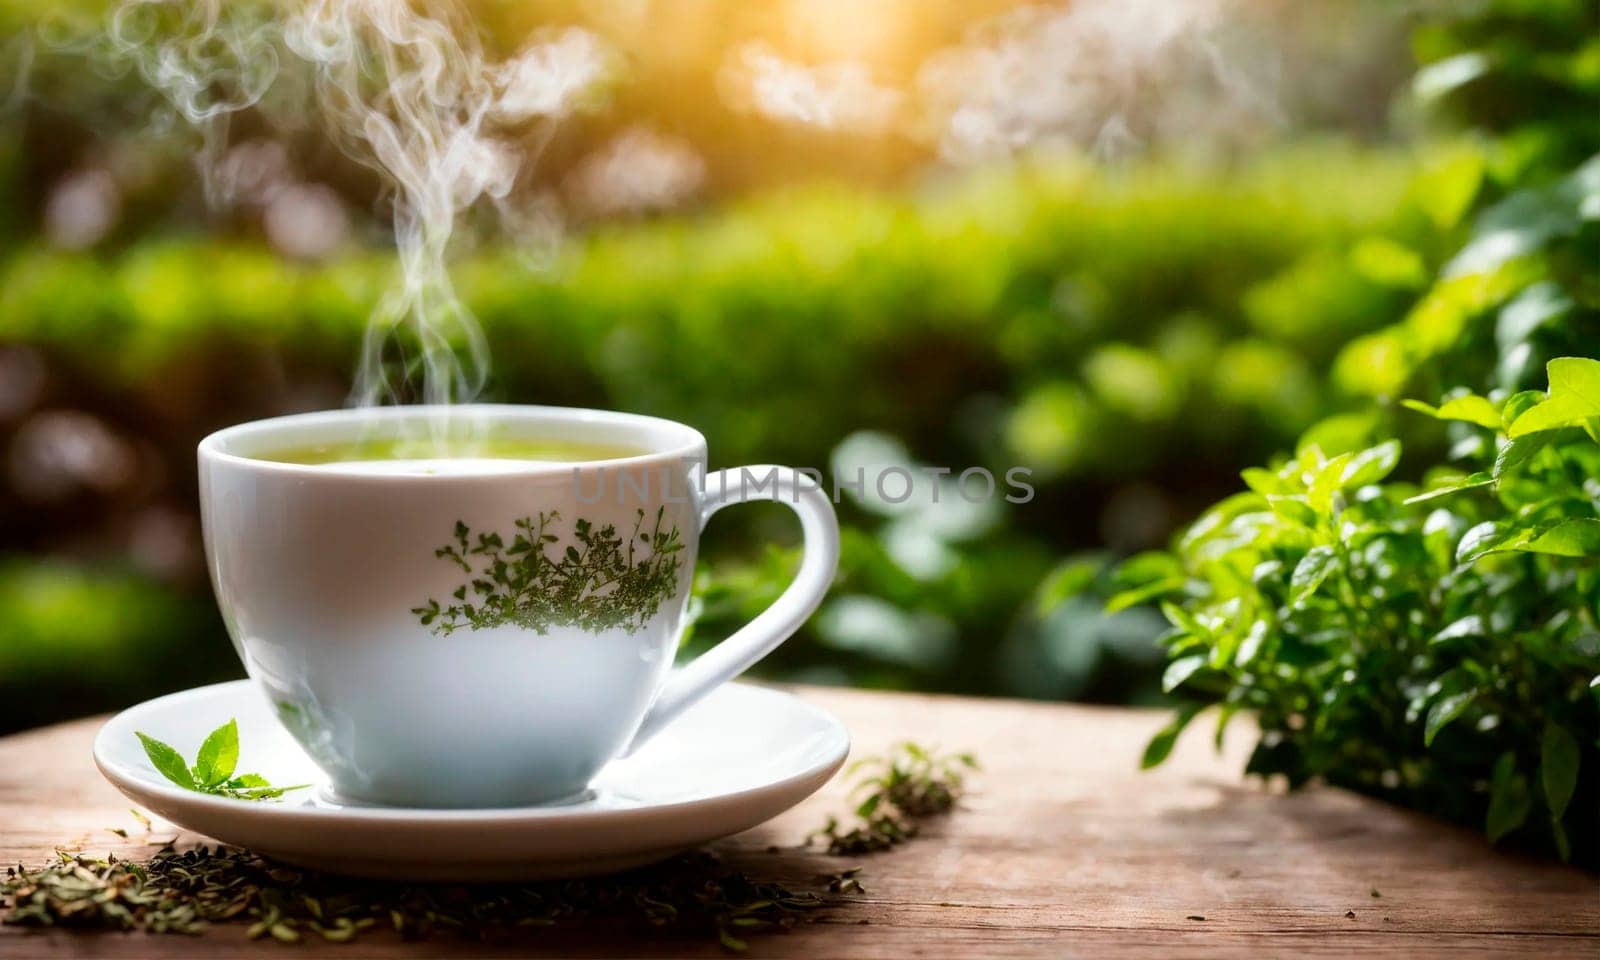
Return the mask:
POLYGON ((1350 446, 1334 421, 1126 563, 1109 606, 1173 598, 1163 688, 1186 698, 1144 765, 1203 706, 1219 738, 1245 709, 1250 773, 1600 862, 1600 360, 1549 376, 1410 405, 1459 429, 1466 467, 1386 482, 1400 442, 1350 446))

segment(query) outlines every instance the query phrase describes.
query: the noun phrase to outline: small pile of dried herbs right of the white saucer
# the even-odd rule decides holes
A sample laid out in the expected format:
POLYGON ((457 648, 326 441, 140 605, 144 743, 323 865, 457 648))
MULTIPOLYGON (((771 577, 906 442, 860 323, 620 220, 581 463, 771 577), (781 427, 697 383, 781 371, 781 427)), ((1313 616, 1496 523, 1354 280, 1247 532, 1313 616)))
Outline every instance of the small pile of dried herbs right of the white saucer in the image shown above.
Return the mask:
POLYGON ((890 850, 917 835, 917 822, 955 808, 966 789, 966 773, 978 770, 971 754, 936 754, 914 742, 896 744, 885 757, 869 757, 850 766, 858 776, 851 794, 859 797, 858 824, 845 829, 838 818, 810 837, 826 840, 835 856, 859 856, 890 850))

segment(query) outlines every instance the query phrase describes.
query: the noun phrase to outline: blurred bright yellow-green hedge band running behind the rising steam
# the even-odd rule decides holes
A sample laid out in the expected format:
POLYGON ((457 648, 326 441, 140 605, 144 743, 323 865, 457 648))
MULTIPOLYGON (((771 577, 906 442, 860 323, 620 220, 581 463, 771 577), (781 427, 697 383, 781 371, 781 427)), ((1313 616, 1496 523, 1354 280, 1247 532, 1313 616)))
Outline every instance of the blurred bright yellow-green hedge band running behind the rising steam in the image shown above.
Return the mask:
MULTIPOLYGON (((454 277, 491 342, 493 398, 688 419, 730 459, 816 461, 854 427, 954 459, 968 451, 946 427, 987 390, 1006 402, 994 462, 1104 470, 1139 427, 1146 456, 1112 467, 1126 475, 1166 435, 1264 453, 1262 426, 1290 437, 1328 406, 1312 371, 1403 296, 1342 250, 1422 232, 1416 166, 1339 144, 1235 171, 1058 158, 910 197, 787 190, 603 229, 542 270, 480 253, 454 277), (1082 400, 1067 419, 1045 402, 1062 389, 1082 400)), ((0 264, 0 339, 133 389, 248 349, 342 374, 390 270, 181 235, 19 246, 0 264)))

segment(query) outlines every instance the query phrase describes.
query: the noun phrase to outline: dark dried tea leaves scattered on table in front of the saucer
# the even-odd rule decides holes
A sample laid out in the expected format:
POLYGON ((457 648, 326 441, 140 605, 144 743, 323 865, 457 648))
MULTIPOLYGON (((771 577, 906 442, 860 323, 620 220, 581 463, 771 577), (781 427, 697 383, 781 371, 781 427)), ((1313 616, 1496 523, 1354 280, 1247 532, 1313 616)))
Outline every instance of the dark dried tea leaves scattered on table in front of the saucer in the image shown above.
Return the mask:
MULTIPOLYGON (((837 886, 830 893, 859 890, 854 870, 838 875, 837 886)), ((61 853, 38 870, 13 867, 0 882, 6 923, 189 934, 246 923, 245 936, 285 944, 342 942, 379 923, 406 939, 448 933, 494 941, 595 922, 712 934, 734 949, 750 933, 787 930, 829 902, 818 891, 752 880, 709 853, 616 877, 464 886, 336 877, 227 846, 168 846, 146 862, 61 853)))

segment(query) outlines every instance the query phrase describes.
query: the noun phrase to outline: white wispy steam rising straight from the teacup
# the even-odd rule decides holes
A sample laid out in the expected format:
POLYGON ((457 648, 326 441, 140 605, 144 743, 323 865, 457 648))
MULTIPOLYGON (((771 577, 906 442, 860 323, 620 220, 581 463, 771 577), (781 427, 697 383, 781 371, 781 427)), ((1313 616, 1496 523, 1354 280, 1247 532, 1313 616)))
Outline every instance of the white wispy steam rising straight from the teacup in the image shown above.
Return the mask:
POLYGON ((552 123, 608 74, 597 37, 541 35, 496 62, 448 0, 125 0, 104 43, 91 53, 131 64, 202 131, 208 198, 229 118, 246 109, 286 128, 314 117, 381 174, 400 280, 373 310, 352 403, 480 394, 488 347, 451 285, 451 237, 480 202, 528 221, 514 190, 552 123))

